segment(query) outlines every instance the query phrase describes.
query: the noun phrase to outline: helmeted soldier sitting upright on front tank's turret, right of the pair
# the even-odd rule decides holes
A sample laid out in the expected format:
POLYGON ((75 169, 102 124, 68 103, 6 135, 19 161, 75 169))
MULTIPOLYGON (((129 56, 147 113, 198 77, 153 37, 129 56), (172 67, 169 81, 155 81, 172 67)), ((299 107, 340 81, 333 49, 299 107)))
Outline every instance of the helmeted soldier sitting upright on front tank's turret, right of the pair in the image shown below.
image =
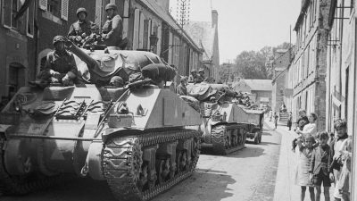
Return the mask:
POLYGON ((102 28, 103 44, 106 46, 120 46, 122 40, 122 20, 119 16, 116 4, 105 6, 107 20, 102 28))

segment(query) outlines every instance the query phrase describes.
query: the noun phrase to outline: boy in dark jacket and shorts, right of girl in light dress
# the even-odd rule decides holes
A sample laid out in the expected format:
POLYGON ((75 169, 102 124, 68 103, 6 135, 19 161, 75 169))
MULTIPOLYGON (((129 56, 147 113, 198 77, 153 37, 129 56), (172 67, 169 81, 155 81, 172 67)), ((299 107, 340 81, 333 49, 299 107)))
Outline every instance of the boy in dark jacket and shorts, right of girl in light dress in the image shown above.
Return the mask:
POLYGON ((318 135, 320 146, 315 147, 312 151, 310 165, 310 179, 315 185, 316 195, 315 200, 320 201, 321 184, 324 187, 325 201, 329 201, 330 180, 333 180, 334 175, 329 169, 330 167, 330 150, 328 146, 328 132, 321 131, 318 135))

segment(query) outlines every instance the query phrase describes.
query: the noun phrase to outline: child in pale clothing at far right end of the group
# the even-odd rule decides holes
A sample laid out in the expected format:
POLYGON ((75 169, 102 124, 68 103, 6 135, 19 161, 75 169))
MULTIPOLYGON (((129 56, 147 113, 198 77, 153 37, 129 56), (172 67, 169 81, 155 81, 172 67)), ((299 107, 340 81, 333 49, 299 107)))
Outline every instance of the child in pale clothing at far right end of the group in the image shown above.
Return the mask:
POLYGON ((351 159, 352 159, 352 140, 348 138, 345 145, 345 151, 341 151, 342 160, 344 161, 344 166, 341 170, 340 178, 336 184, 336 188, 342 194, 342 199, 344 201, 350 201, 352 178, 350 176, 351 172, 351 159))

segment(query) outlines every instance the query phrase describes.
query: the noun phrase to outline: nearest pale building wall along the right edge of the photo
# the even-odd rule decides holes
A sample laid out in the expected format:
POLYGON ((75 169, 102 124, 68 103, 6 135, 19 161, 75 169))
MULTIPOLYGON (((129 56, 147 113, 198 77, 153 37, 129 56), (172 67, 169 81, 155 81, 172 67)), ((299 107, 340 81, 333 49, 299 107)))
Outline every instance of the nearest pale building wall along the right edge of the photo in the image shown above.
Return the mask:
POLYGON ((328 14, 328 71, 326 92, 326 130, 333 131, 336 118, 347 121, 347 133, 353 138, 353 188, 351 200, 357 200, 357 70, 355 1, 332 0, 328 14))

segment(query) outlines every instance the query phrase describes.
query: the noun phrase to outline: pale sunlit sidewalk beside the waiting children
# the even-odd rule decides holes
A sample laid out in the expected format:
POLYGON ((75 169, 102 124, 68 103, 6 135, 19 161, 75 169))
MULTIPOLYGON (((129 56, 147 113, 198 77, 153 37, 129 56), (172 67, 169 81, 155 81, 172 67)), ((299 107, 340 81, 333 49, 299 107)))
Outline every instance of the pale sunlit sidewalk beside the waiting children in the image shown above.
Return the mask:
MULTIPOLYGON (((265 120, 268 129, 274 129, 274 122, 265 120)), ((286 125, 279 125, 276 130, 281 134, 280 155, 278 161, 277 180, 274 190, 274 201, 297 201, 300 200, 300 186, 295 185, 295 171, 298 161, 298 150, 295 153, 291 150, 291 142, 297 137, 292 130, 288 130, 286 125)), ((330 188, 330 197, 333 200, 333 187, 330 188)), ((322 190, 323 191, 323 190, 322 190)), ((305 200, 310 200, 309 190, 306 190, 305 200)), ((321 200, 324 200, 323 192, 321 200)))

